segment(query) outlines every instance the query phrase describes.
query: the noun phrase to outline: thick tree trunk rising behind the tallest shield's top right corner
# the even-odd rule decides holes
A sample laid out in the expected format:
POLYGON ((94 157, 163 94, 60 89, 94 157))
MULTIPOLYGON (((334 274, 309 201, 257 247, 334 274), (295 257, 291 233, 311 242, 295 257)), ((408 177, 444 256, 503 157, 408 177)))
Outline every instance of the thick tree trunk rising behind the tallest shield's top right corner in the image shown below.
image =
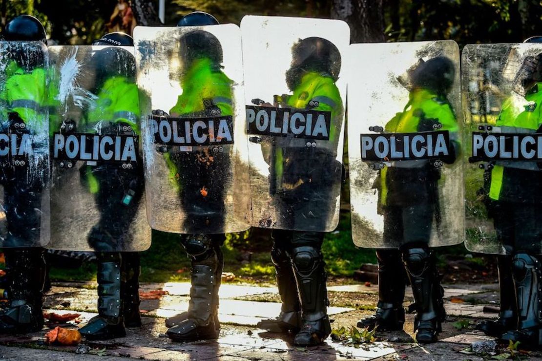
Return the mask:
POLYGON ((350 26, 351 41, 383 42, 383 0, 333 0, 331 16, 350 26))

